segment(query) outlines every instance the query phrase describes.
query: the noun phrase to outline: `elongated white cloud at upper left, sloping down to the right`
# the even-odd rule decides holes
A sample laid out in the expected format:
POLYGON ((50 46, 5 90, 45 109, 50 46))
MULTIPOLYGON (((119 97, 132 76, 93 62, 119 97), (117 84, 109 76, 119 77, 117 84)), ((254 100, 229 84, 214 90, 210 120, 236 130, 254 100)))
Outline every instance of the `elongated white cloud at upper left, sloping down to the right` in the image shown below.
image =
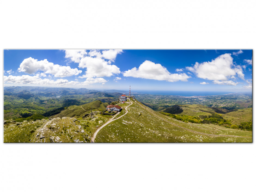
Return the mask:
POLYGON ((68 77, 72 75, 78 75, 81 73, 81 70, 77 68, 71 69, 70 66, 60 66, 54 65, 51 62, 48 62, 47 59, 38 61, 31 57, 24 59, 18 68, 19 72, 26 72, 28 74, 33 74, 36 71, 43 71, 47 74, 52 74, 54 77, 68 77))

